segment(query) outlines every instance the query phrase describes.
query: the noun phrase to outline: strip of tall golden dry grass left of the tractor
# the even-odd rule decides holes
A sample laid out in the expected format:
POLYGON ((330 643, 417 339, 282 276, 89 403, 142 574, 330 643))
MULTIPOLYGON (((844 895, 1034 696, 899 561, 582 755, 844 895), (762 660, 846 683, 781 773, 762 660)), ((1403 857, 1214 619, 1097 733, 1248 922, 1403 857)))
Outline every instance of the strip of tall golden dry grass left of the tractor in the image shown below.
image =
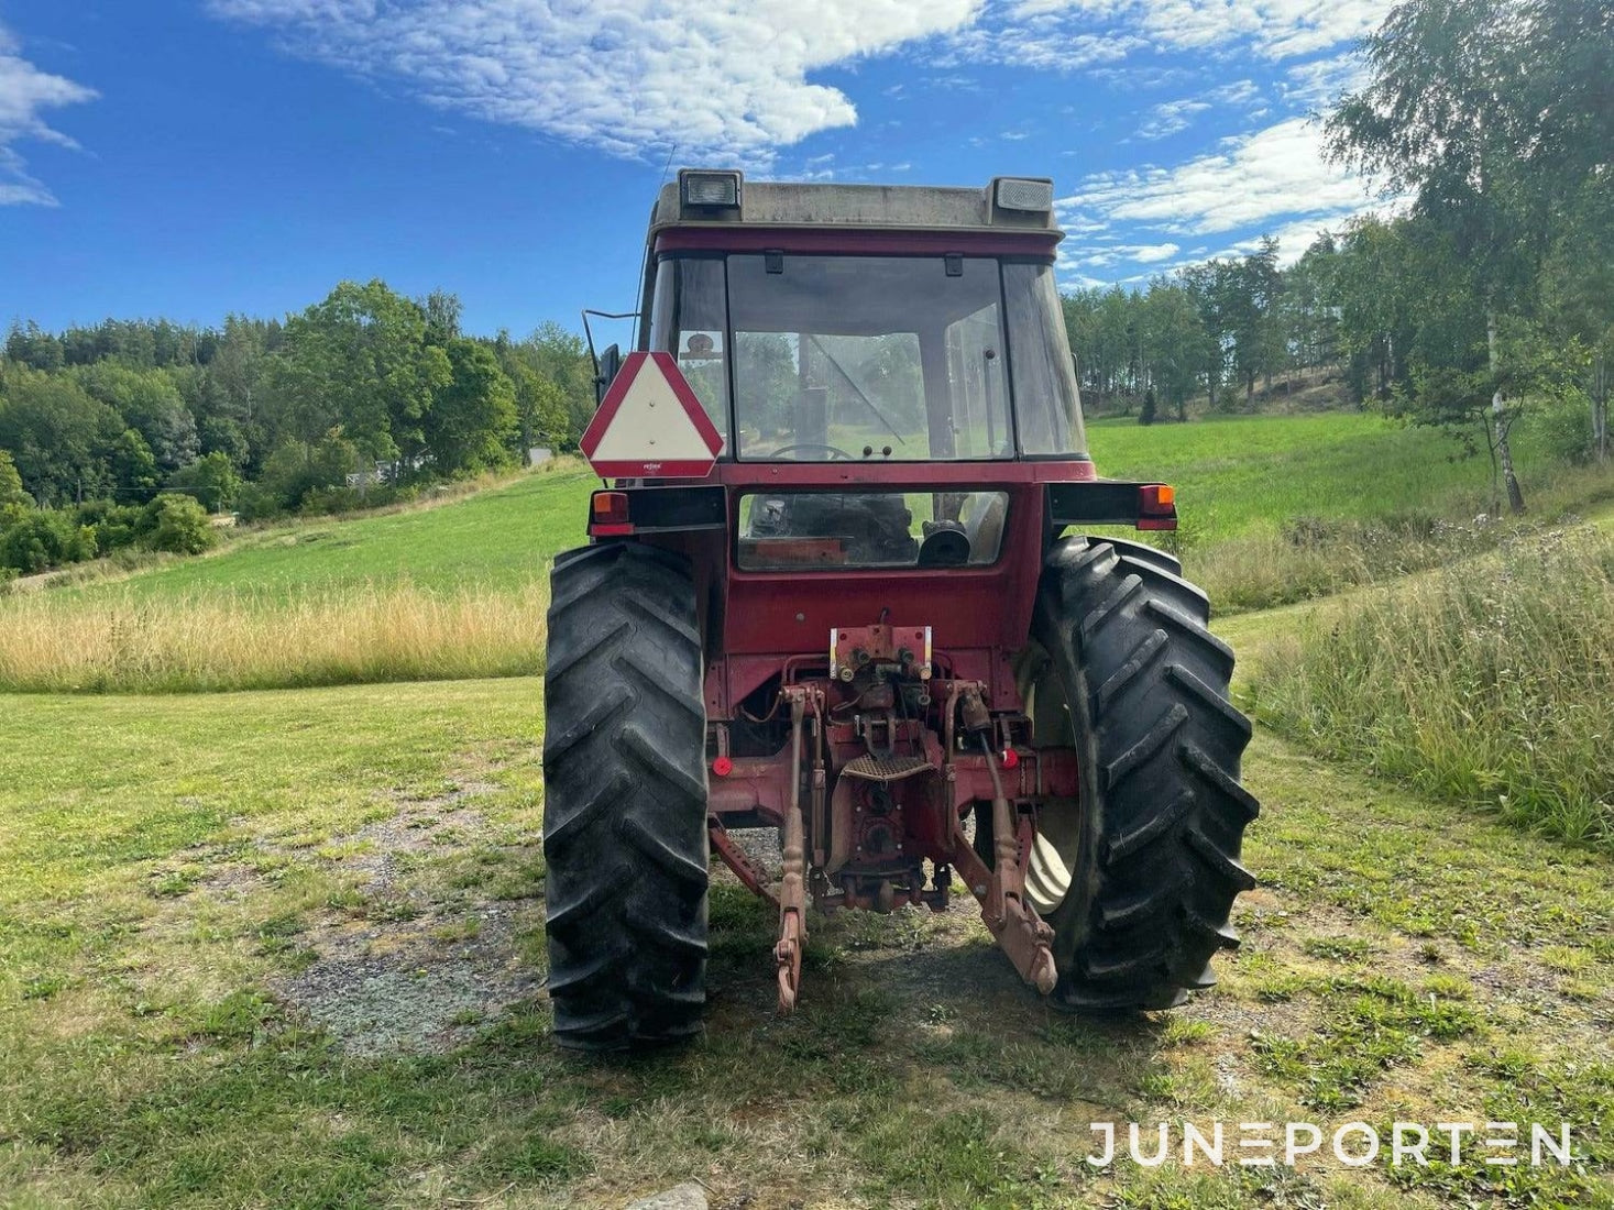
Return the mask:
POLYGON ((358 586, 263 600, 52 592, 0 600, 0 691, 166 694, 521 676, 544 666, 546 584, 358 586))

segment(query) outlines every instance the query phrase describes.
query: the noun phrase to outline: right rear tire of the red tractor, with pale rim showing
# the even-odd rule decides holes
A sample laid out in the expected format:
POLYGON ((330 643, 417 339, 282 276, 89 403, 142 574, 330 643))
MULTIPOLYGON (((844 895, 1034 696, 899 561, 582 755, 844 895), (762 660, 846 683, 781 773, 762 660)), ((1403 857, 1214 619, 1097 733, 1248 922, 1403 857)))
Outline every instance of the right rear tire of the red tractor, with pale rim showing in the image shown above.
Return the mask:
POLYGON ((1017 661, 1033 742, 1081 758, 1081 797, 1044 808, 1027 878, 1067 1008, 1170 1008, 1212 986, 1256 886, 1238 860, 1259 807, 1240 786, 1233 652, 1175 566, 1131 542, 1056 542, 1017 661))

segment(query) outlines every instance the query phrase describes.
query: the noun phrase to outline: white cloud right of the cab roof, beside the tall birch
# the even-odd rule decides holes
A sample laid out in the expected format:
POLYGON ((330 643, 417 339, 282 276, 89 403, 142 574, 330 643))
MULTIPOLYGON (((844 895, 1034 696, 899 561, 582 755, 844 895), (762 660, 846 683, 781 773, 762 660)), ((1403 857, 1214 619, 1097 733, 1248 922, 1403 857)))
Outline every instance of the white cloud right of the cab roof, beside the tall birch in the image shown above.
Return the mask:
POLYGON ((1204 236, 1273 219, 1333 218, 1361 210, 1359 177, 1322 156, 1322 129, 1290 118, 1177 168, 1099 173, 1060 198, 1062 211, 1204 236))

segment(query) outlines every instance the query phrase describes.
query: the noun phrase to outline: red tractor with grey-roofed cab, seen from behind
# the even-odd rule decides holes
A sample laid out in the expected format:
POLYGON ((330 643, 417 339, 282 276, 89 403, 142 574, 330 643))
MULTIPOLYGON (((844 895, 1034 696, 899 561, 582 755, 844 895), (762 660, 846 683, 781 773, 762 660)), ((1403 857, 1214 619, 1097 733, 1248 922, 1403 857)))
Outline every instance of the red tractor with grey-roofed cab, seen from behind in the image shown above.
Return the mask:
POLYGON ((689 1037, 712 850, 778 903, 941 910, 954 879, 1070 1010, 1167 1008, 1238 944, 1257 812, 1233 652, 1173 529, 1099 479, 1052 184, 759 184, 652 211, 638 352, 600 358, 607 479, 555 560, 544 681, 562 1045, 689 1037), (730 829, 776 828, 765 879, 730 829))

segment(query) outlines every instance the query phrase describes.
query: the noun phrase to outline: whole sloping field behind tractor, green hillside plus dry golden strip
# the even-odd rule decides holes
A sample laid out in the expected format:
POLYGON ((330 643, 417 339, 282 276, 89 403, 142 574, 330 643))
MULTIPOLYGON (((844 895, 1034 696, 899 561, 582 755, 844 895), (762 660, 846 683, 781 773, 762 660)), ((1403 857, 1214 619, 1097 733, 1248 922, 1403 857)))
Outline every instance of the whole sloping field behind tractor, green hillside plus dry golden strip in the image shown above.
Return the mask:
MULTIPOLYGON (((1614 476, 1519 440, 1546 515, 1614 476)), ((1440 434, 1367 415, 1101 423, 1101 471, 1180 487, 1170 536, 1222 611, 1304 600, 1495 547, 1483 468, 1440 434), (1372 484, 1364 489, 1364 484, 1372 484)), ((182 692, 526 674, 541 668, 549 560, 583 540, 597 482, 576 461, 437 507, 247 532, 129 576, 0 597, 0 691, 182 692)))

